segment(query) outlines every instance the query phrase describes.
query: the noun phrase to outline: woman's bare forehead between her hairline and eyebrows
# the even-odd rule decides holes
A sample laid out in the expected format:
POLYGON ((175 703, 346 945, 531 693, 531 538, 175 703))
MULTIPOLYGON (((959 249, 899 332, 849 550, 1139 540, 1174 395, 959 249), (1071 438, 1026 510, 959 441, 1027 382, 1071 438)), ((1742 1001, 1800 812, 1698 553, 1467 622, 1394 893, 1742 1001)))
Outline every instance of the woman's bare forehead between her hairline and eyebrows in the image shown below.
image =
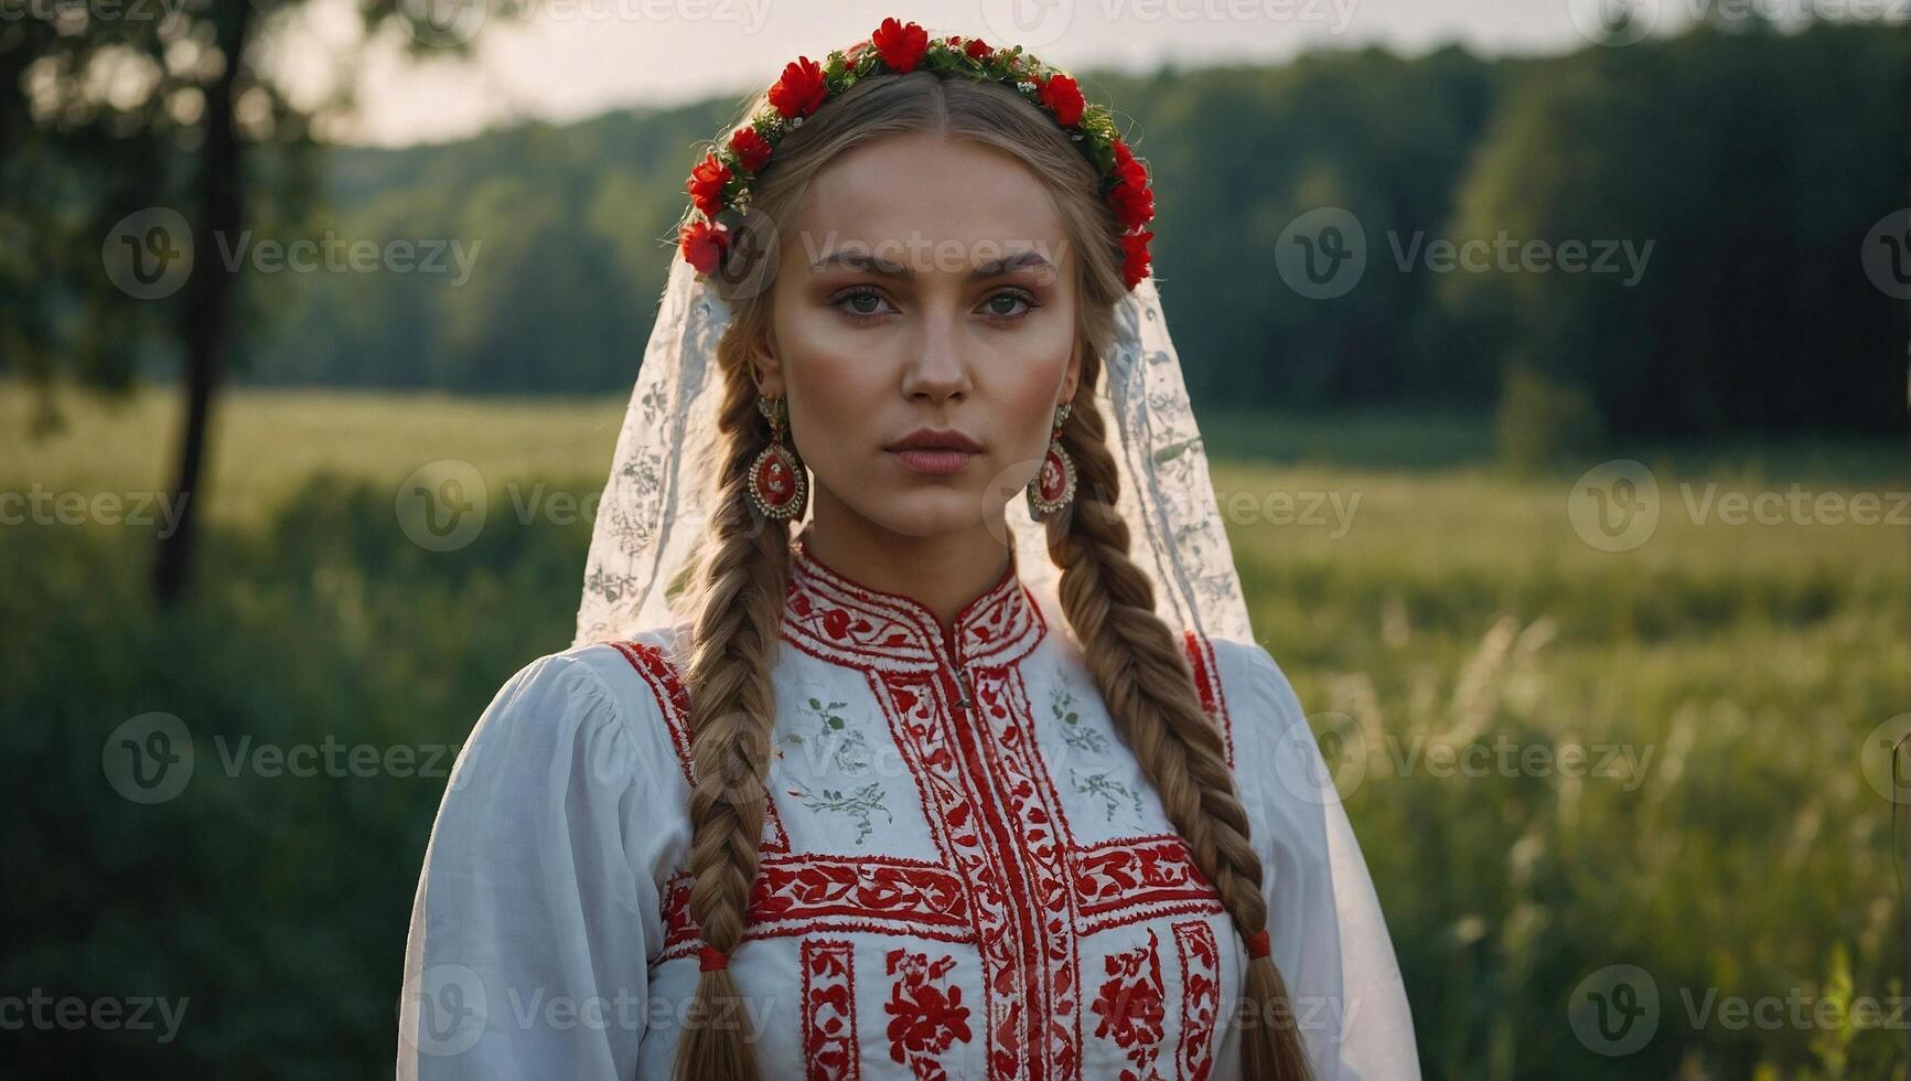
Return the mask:
POLYGON ((839 243, 1047 245, 1063 220, 1047 188, 1011 155, 940 136, 896 136, 843 153, 810 182, 795 220, 816 253, 839 243))

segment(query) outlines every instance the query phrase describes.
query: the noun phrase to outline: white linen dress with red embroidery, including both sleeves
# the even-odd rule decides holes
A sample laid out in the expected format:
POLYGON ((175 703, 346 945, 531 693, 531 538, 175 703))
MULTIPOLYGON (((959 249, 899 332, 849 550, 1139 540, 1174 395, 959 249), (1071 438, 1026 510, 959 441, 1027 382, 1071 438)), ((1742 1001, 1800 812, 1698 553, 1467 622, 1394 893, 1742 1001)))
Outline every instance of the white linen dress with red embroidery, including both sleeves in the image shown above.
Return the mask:
MULTIPOLYGON (((688 915, 686 628, 533 660, 424 855, 401 1079, 667 1079, 688 915)), ((1236 1079, 1246 945, 1116 737, 1053 597, 927 605, 791 543, 770 804, 730 957, 770 1079, 1236 1079)), ((1420 1077, 1359 844, 1288 679, 1183 635, 1267 867, 1321 1081, 1420 1077)))

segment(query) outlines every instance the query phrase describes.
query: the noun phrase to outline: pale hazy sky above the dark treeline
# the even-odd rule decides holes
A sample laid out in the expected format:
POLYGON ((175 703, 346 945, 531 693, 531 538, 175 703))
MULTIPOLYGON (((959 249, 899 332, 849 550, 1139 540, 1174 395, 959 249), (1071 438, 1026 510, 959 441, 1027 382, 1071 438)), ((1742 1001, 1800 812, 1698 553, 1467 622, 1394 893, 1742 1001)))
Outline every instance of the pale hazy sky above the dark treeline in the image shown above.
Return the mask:
MULTIPOLYGON (((1565 52, 1584 46, 1600 11, 1628 8, 1664 31, 1710 4, 1745 0, 399 0, 409 33, 466 36, 472 59, 411 59, 375 42, 346 69, 327 44, 350 36, 354 0, 311 0, 279 38, 294 86, 355 78, 359 115, 338 142, 397 145, 462 138, 520 119, 575 121, 631 105, 711 94, 741 98, 784 63, 822 59, 870 34, 885 15, 931 34, 1017 44, 1059 67, 1154 69, 1280 61, 1307 48, 1385 44, 1420 54, 1445 42, 1477 52, 1565 52), (340 75, 346 73, 346 75, 340 75)), ((1770 0, 1781 4, 1831 0, 1770 0)), ((1867 0, 1838 0, 1863 4, 1867 0)), ((1875 0, 1888 2, 1888 0, 1875 0)), ((445 50, 432 52, 443 55, 445 50)))

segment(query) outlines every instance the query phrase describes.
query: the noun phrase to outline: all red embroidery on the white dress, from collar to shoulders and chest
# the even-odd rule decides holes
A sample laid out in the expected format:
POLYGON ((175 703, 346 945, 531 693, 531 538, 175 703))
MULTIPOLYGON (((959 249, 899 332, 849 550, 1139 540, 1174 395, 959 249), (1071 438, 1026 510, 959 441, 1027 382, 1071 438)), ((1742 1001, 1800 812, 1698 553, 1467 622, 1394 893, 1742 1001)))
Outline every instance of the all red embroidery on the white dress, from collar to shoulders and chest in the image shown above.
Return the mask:
MULTIPOLYGON (((772 800, 766 819, 776 825, 766 832, 774 832, 784 848, 778 851, 768 838, 764 842, 743 936, 873 932, 973 945, 982 964, 980 1014, 990 1081, 1082 1077, 1080 936, 1160 916, 1225 913, 1187 844, 1173 832, 1087 846, 1074 842, 1053 777, 1034 746, 1034 712, 1017 668, 1045 631, 1040 607, 1013 574, 963 608, 954 635, 944 639, 927 607, 902 595, 862 589, 797 549, 784 641, 820 660, 864 672, 915 779, 938 859, 789 855, 772 800), (954 706, 961 698, 959 673, 973 683, 971 710, 954 706)), ((1196 633, 1185 641, 1202 706, 1221 725, 1233 761, 1212 645, 1196 633)), ((661 696, 680 700, 682 691, 661 652, 642 645, 634 649, 634 656, 625 651, 633 666, 646 672, 654 689, 663 687, 661 696)), ((688 763, 686 716, 684 708, 665 708, 673 744, 688 763)), ((663 905, 665 947, 657 960, 696 951, 699 936, 688 916, 688 895, 690 874, 671 876, 663 905)), ((1200 972, 1208 974, 1206 983, 1183 989, 1185 1006, 1206 1003, 1208 1012, 1194 1027, 1181 1027, 1177 1066, 1185 1077, 1206 1075, 1219 1008, 1213 932, 1200 918, 1175 928, 1189 980, 1200 983, 1200 972), (1198 949, 1202 943, 1194 928, 1206 930, 1206 955, 1198 949)), ((814 949, 820 947, 805 943, 806 985, 814 978, 814 949)), ((1129 974, 1120 1031, 1131 1037, 1133 1047, 1143 1033, 1154 1031, 1149 1043, 1152 1062, 1152 1045, 1162 1039, 1160 1020, 1150 1027, 1149 1012, 1137 1014, 1135 1006, 1149 985, 1160 999, 1154 932, 1147 947, 1129 953, 1141 951, 1150 957, 1147 976, 1129 974)), ((942 991, 929 983, 940 980, 954 960, 944 955, 929 966, 925 955, 900 949, 889 959, 891 976, 898 964, 904 968, 889 1003, 892 1056, 910 1064, 917 1077, 940 1077, 942 1066, 923 1048, 934 1047, 940 1054, 956 1039, 971 1039, 969 1008, 959 1003, 959 987, 942 991), (923 976, 912 976, 912 966, 923 976), (946 1022, 946 1031, 936 1027, 942 1024, 936 1018, 946 1022)), ((1114 991, 1106 983, 1101 991, 1101 1027, 1114 1031, 1108 1014, 1114 991)), ((1156 1014, 1160 1008, 1158 1003, 1156 1014)), ((805 1024, 810 1024, 808 1014, 805 1024)), ((1124 1045, 1124 1050, 1133 1047, 1124 1045)), ((1152 1075, 1147 1062, 1133 1064, 1137 1071, 1129 1075, 1152 1075)))

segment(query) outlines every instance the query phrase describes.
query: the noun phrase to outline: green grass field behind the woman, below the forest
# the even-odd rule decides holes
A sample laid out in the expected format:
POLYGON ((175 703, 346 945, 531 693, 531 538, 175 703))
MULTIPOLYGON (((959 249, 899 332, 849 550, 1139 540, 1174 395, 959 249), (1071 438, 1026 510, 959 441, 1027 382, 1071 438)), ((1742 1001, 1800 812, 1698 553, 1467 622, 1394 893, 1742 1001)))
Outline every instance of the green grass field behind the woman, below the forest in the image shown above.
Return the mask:
MULTIPOLYGON (((162 486, 174 396, 73 400, 44 444, 27 406, 0 388, 0 492, 162 486)), ((510 499, 592 496, 621 413, 229 394, 197 591, 172 612, 145 599, 155 526, 8 518, 0 784, 34 828, 8 859, 0 913, 31 936, 0 985, 191 1001, 176 1041, 52 1033, 25 1045, 29 1073, 390 1070, 443 781, 262 777, 210 746, 455 746, 510 672, 569 641, 589 522, 522 524, 510 499), (472 463, 505 522, 453 553, 394 515, 399 480, 440 459, 472 463), (204 761, 182 798, 136 805, 99 748, 151 710, 204 761)), ((1905 1033, 1854 1003, 1903 993, 1894 804, 1861 769, 1907 708, 1900 448, 1615 450, 1649 469, 1659 522, 1603 551, 1569 513, 1598 461, 1506 474, 1464 417, 1225 417, 1210 442, 1256 629, 1340 765, 1428 1077, 1888 1073, 1905 1033), (1735 494, 1793 492, 1798 520, 1731 522, 1735 494), (1861 496, 1894 520, 1854 522, 1861 496), (1609 966, 1659 999, 1622 1056, 1571 1012, 1609 966)))

